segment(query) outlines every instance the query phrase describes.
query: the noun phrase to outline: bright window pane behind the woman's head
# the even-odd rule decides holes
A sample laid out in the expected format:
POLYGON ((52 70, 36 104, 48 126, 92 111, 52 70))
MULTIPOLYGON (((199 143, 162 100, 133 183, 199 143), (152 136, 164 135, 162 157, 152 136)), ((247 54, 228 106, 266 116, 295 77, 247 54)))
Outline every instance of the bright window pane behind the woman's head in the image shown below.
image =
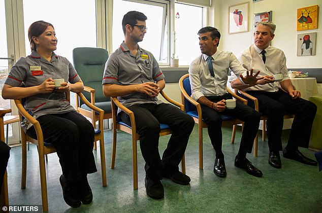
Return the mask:
POLYGON ((72 51, 76 47, 96 47, 95 0, 24 0, 24 31, 26 55, 30 54, 28 27, 44 20, 54 25, 58 39, 55 53, 73 63, 72 51), (37 12, 35 12, 37 11, 37 12))

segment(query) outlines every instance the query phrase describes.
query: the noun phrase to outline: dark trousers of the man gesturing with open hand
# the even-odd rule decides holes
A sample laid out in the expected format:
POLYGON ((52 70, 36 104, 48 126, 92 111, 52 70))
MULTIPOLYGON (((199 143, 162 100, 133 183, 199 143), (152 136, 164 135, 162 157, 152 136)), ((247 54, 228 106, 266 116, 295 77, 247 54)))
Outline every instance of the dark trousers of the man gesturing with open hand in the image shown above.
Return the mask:
MULTIPOLYGON (((213 102, 218 102, 222 99, 232 99, 231 94, 225 94, 220 96, 207 96, 207 98, 213 102)), ((246 155, 251 153, 254 139, 260 125, 260 114, 243 104, 241 101, 236 100, 235 109, 227 109, 219 113, 206 105, 201 104, 202 117, 204 122, 208 126, 208 134, 211 140, 211 144, 216 151, 216 154, 221 153, 222 145, 222 132, 221 132, 221 115, 228 115, 235 119, 244 121, 244 128, 240 141, 239 153, 246 155)))

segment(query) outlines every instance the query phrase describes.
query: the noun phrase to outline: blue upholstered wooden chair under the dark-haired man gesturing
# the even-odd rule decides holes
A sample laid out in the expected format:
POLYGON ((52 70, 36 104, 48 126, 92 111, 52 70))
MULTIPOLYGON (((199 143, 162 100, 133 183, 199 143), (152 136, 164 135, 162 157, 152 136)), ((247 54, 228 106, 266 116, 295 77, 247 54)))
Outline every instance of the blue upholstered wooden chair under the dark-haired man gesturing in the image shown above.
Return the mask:
MULTIPOLYGON (((199 131, 199 168, 204 168, 203 163, 203 132, 202 129, 207 127, 207 125, 203 122, 202 119, 202 111, 200 103, 192 99, 191 96, 191 86, 189 80, 189 74, 185 74, 179 80, 179 87, 181 91, 181 102, 184 105, 184 111, 194 118, 195 123, 198 124, 198 131, 199 131)), ((235 95, 229 88, 227 91, 233 95, 236 99, 241 100, 244 104, 247 104, 247 100, 235 95)), ((233 133, 232 133, 232 144, 235 141, 235 133, 236 133, 236 125, 242 124, 243 122, 237 119, 234 119, 230 116, 222 115, 222 123, 233 125, 233 133)))

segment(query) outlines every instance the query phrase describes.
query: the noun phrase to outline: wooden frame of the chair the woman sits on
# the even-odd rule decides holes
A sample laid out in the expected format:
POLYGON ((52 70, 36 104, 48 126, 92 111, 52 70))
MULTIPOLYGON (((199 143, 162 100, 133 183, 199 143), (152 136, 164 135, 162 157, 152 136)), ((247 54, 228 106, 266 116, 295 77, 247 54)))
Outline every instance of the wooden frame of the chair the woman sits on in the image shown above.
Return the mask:
MULTIPOLYGON (((79 97, 84 101, 84 103, 92 110, 99 113, 99 129, 101 130, 99 134, 95 134, 94 141, 100 140, 100 153, 101 153, 101 169, 102 169, 102 183, 103 186, 106 186, 106 165, 105 165, 105 148, 104 148, 104 132, 103 132, 103 116, 104 111, 100 108, 95 107, 90 104, 82 93, 77 93, 79 97)), ((67 100, 70 101, 70 93, 67 93, 67 100)), ((42 194, 42 204, 43 211, 48 211, 48 197, 47 197, 47 181, 46 181, 46 167, 45 167, 45 155, 56 152, 54 147, 44 146, 44 137, 41 126, 39 122, 33 118, 28 112, 24 109, 22 101, 20 99, 15 99, 15 104, 19 111, 20 120, 24 117, 28 122, 32 123, 35 127, 37 133, 37 139, 29 137, 21 129, 21 152, 22 152, 22 166, 21 166, 21 189, 26 187, 26 170, 27 170, 27 149, 26 141, 38 146, 39 154, 39 167, 40 167, 40 183, 41 183, 41 194, 42 194)))

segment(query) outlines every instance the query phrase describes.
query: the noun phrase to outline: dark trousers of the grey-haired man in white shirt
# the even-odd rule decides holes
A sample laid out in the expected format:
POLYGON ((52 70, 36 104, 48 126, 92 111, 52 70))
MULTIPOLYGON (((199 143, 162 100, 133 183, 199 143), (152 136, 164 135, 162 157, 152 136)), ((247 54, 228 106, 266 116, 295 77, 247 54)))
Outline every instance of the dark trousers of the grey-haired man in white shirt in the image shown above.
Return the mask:
MULTIPOLYGON (((277 92, 247 91, 259 100, 260 112, 267 116, 266 129, 270 152, 282 150, 281 134, 283 116, 286 113, 295 115, 291 134, 289 134, 286 149, 297 150, 298 147, 308 147, 312 123, 316 114, 316 105, 302 98, 292 97, 278 90, 277 92)), ((248 101, 253 107, 253 101, 248 101)))

